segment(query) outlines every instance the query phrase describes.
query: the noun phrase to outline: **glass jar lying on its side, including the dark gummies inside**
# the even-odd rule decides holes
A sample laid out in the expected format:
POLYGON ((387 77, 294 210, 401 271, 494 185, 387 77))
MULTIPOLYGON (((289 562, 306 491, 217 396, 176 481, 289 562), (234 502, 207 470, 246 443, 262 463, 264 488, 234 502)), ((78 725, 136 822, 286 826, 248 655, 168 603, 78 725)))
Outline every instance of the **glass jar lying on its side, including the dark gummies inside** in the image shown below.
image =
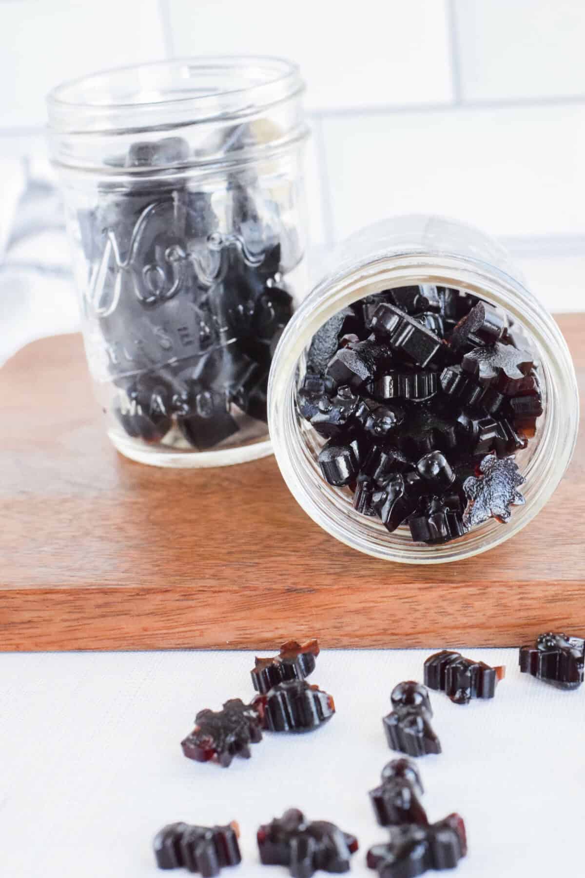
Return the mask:
POLYGON ((517 534, 577 435, 574 366, 553 317, 496 241, 451 219, 384 220, 331 262, 268 386, 296 500, 341 542, 408 564, 517 534))

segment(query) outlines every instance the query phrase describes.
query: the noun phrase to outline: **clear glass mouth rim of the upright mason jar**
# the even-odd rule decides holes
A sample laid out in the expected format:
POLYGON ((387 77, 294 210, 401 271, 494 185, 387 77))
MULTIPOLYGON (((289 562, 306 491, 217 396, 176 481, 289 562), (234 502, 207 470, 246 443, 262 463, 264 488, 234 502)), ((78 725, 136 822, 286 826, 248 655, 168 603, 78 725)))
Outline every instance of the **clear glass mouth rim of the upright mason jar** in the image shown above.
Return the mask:
POLYGON ((239 119, 303 90, 298 65, 262 55, 210 55, 111 68, 61 83, 46 98, 49 126, 62 133, 239 119))

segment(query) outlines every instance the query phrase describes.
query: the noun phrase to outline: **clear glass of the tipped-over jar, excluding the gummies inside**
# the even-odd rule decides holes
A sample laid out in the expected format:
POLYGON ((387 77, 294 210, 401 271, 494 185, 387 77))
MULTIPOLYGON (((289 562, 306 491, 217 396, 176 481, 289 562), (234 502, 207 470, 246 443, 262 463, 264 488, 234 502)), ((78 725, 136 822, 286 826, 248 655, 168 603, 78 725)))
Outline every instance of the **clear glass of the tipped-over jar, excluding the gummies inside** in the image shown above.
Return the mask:
MULTIPOLYGON (((579 398, 574 366, 560 329, 528 291, 503 248, 472 227, 441 217, 405 216, 366 227, 332 255, 332 270, 304 299, 276 350, 268 386, 268 424, 277 463, 305 512, 342 543, 377 558, 435 564, 468 558, 514 536, 553 494, 574 450, 579 398), (415 543, 408 527, 394 532, 353 507, 349 487, 327 484, 317 465, 325 440, 301 417, 297 392, 319 327, 366 296, 433 284, 470 293, 500 309, 538 363, 542 414, 515 455, 524 505, 510 522, 491 517, 444 544, 415 543)), ((399 401, 399 400, 398 400, 399 401)))

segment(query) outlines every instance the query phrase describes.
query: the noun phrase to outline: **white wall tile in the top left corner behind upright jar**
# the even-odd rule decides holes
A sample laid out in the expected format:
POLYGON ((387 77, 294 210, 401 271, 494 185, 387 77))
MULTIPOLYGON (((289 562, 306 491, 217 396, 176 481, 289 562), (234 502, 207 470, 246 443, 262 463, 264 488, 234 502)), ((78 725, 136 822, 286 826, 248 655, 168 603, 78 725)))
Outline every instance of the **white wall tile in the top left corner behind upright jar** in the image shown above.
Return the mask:
POLYGON ((165 55, 157 0, 0 3, 0 126, 42 126, 64 79, 165 55))

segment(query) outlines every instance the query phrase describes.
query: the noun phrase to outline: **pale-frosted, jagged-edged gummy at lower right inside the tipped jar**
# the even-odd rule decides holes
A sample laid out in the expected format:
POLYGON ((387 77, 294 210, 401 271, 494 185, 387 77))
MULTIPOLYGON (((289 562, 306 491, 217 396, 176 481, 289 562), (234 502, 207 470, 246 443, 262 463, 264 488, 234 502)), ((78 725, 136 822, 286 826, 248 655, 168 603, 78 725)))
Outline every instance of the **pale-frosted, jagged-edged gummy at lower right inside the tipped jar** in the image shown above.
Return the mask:
POLYGON ((498 460, 495 454, 488 454, 479 464, 479 471, 479 476, 469 476, 463 483, 467 496, 463 524, 467 529, 489 518, 509 522, 510 506, 524 505, 524 497, 517 490, 524 483, 524 476, 511 457, 498 460))

